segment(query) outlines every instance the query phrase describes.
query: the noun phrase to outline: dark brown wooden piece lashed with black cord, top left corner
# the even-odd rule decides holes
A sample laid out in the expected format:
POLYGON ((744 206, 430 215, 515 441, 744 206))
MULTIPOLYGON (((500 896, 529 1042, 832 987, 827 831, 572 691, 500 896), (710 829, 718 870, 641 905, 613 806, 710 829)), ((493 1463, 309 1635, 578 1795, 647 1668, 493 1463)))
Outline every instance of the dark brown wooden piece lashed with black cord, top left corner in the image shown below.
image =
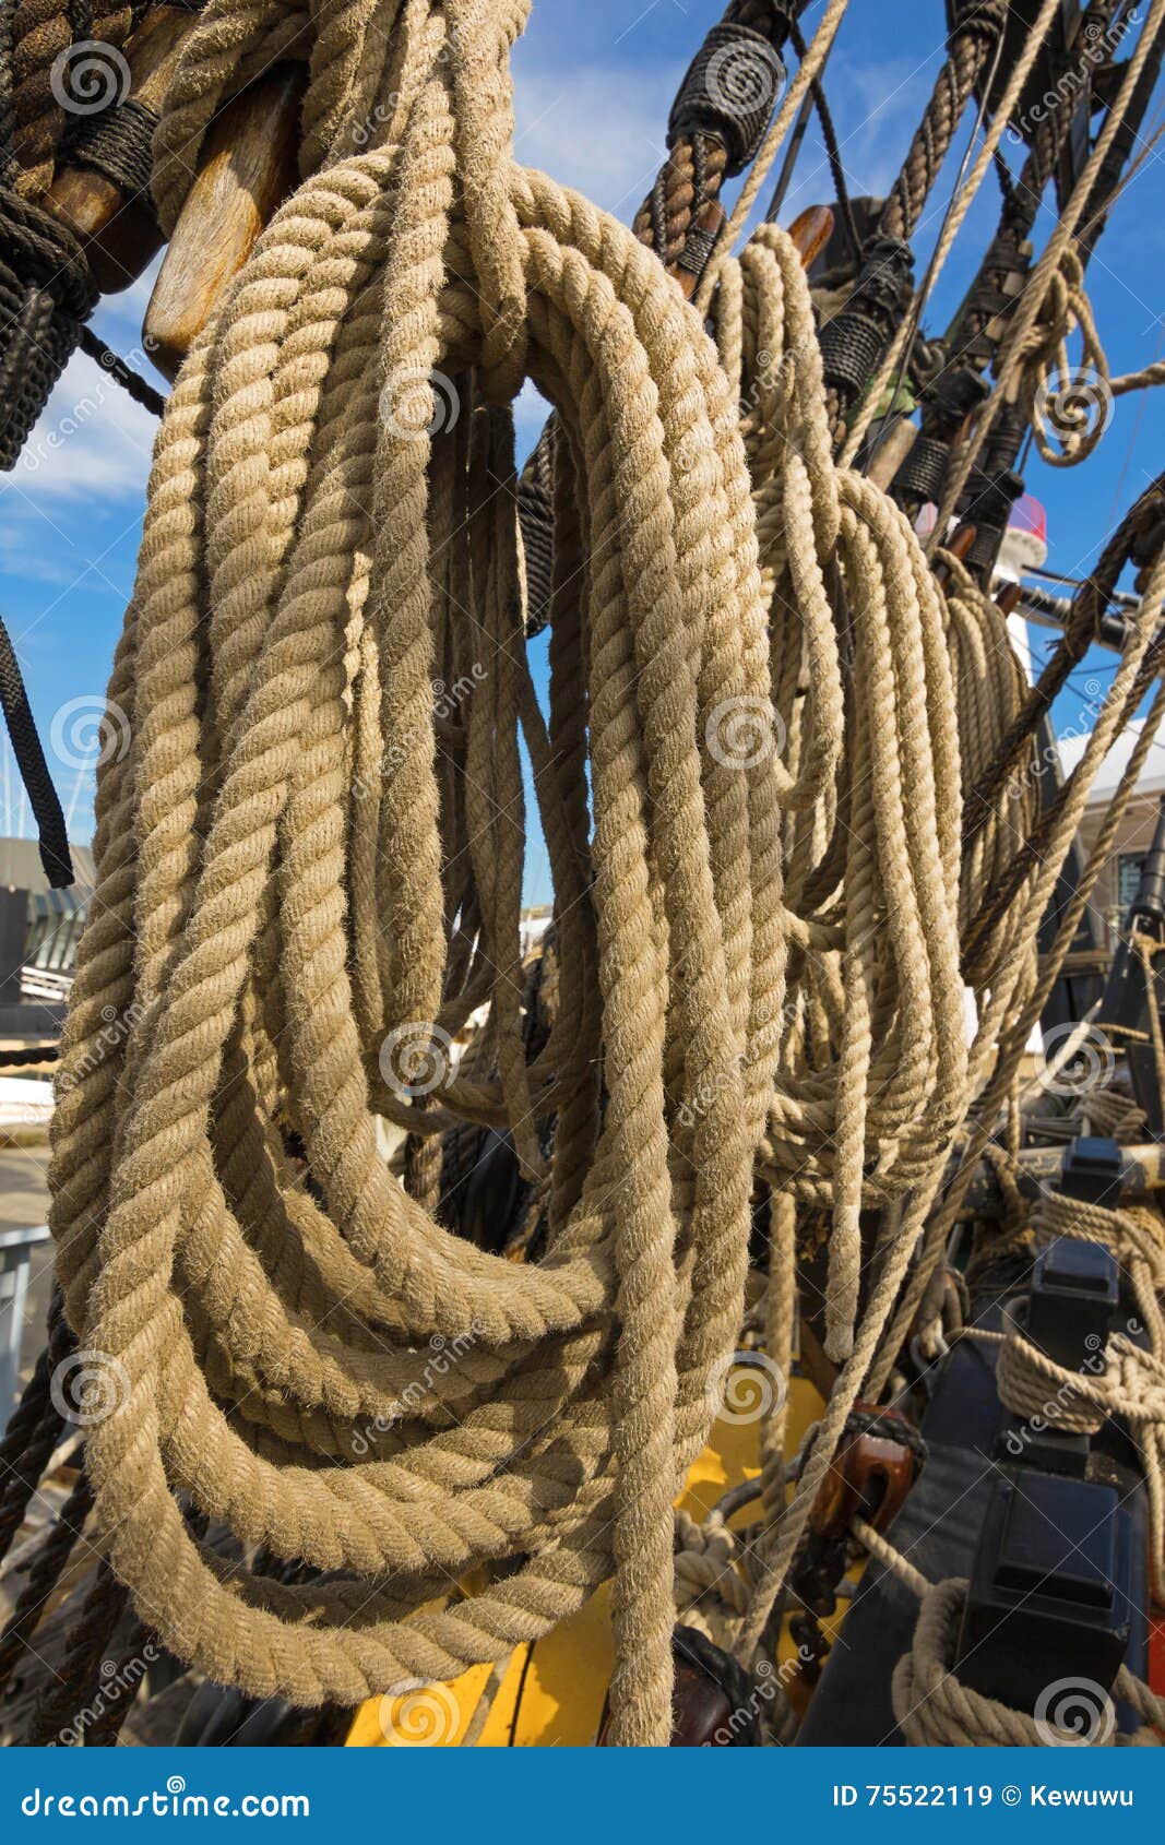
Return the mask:
MULTIPOLYGON (((198 13, 177 6, 155 6, 126 44, 120 87, 126 94, 116 103, 129 101, 159 114, 183 46, 198 24, 198 13), (129 81, 126 83, 126 72, 129 81)), ((111 66, 113 72, 114 66, 111 66)), ((92 118, 96 124, 96 116, 92 118)), ((44 196, 44 208, 54 214, 81 244, 92 279, 103 295, 114 295, 142 275, 162 247, 162 232, 150 197, 118 184, 109 173, 85 162, 83 142, 87 124, 81 124, 81 151, 70 166, 63 166, 44 196)))

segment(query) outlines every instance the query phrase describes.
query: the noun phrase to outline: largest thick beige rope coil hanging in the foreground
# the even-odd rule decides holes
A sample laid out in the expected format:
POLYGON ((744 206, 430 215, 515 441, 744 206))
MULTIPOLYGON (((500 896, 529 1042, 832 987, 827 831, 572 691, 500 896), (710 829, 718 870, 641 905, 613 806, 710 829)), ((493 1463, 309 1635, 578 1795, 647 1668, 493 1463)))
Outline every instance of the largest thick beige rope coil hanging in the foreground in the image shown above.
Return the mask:
MULTIPOLYGON (((783 1004, 777 788, 716 753, 713 721, 768 708, 768 644, 696 315, 628 231, 513 164, 522 11, 314 15, 323 164, 159 435, 54 1231, 70 1323, 124 1384, 90 1432, 96 1533, 179 1657, 354 1703, 500 1660, 615 1563, 615 1734, 659 1744, 670 1504, 742 1314, 783 1004), (561 419, 576 533, 548 725, 521 648, 524 375, 561 419), (474 684, 450 725, 436 677, 474 684), (530 1066, 519 731, 563 970, 530 1066), (417 1046, 439 1063, 482 1002, 498 1081, 430 1085, 417 1046), (94 1055, 109 1007, 126 1033, 94 1055), (510 1124, 519 1146, 556 1109, 543 1264, 441 1231, 382 1166, 373 1109, 417 1135, 510 1124), (417 1380, 443 1345, 438 1395, 417 1380), (175 1493, 323 1577, 225 1579, 175 1493), (521 1566, 434 1601, 502 1557, 521 1566)), ((207 13, 212 48, 227 15, 207 13)))

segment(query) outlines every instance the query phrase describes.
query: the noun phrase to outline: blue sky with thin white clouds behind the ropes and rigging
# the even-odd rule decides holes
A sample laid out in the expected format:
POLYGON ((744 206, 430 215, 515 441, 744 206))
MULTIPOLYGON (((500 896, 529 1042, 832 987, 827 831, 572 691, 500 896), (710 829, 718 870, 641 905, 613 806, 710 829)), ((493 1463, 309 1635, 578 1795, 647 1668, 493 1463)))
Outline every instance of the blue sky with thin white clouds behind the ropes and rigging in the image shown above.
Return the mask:
MULTIPOLYGON (((811 31, 823 0, 809 9, 811 31)), ((722 0, 534 0, 515 52, 519 159, 578 186, 630 220, 665 151, 663 131, 676 85, 722 0)), ((827 70, 827 94, 842 140, 851 192, 881 194, 892 183, 925 107, 943 52, 942 0, 851 0, 827 70)), ((1159 98, 1158 98, 1159 103, 1159 98)), ((1156 122, 1150 111, 1148 125, 1156 122)), ((966 118, 956 151, 932 194, 916 242, 919 273, 971 133, 966 118)), ((1006 146, 1006 144, 1004 144, 1006 146)), ((1014 164, 1019 149, 1010 148, 1014 164)), ((1113 373, 1135 371, 1165 354, 1161 277, 1165 212, 1161 155, 1117 205, 1089 269, 1089 293, 1113 373)), ((831 196, 816 120, 805 138, 783 221, 831 196)), ((967 286, 999 212, 993 179, 971 207, 927 325, 943 327, 967 286)), ((1045 208, 1039 238, 1052 227, 1045 208)), ((151 277, 107 299, 98 330, 135 358, 151 277)), ((519 439, 528 446, 541 406, 526 389, 519 402, 519 439)), ((1104 539, 1156 470, 1165 465, 1165 399, 1123 399, 1100 452, 1076 470, 1051 470, 1032 459, 1028 491, 1049 507, 1052 568, 1087 570, 1104 539)), ((0 476, 0 594, 4 616, 26 675, 50 766, 72 836, 92 828, 92 771, 78 747, 76 720, 65 708, 98 708, 122 613, 133 585, 153 419, 131 404, 85 358, 76 358, 54 393, 30 448, 11 476, 0 476), (55 725, 55 731, 54 731, 55 725), (55 740, 54 740, 55 736, 55 740)), ((1049 637, 1038 637, 1047 651, 1049 637)), ((1111 655, 1095 670, 1108 675, 1111 655)), ((1080 696, 1069 688, 1058 707, 1063 725, 1078 721, 1080 696)), ((0 745, 0 832, 30 834, 11 753, 0 745)), ((530 867, 530 900, 543 900, 545 869, 530 867)))

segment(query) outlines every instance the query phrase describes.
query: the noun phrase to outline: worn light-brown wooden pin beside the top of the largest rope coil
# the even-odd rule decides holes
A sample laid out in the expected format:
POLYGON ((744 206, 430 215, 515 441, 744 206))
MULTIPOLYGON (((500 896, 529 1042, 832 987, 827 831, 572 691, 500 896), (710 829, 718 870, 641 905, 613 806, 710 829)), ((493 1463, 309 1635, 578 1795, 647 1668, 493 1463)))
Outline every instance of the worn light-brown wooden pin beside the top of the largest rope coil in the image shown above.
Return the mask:
POLYGON ((236 96, 207 135, 146 308, 146 347, 168 378, 299 179, 305 89, 305 65, 277 65, 236 96))

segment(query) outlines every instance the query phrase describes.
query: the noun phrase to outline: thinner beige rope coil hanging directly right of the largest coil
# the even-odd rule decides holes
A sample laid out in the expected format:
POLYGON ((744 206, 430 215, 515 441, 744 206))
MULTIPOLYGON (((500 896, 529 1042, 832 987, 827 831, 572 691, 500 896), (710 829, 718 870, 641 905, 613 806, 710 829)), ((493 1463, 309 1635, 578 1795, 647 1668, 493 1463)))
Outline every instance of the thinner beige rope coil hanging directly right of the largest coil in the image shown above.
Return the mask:
MULTIPOLYGON (((763 225, 724 269, 770 598, 790 954, 761 1170, 833 1207, 827 1352, 853 1347, 862 1205, 949 1146, 966 1083, 960 768, 945 611, 905 517, 835 469, 809 284, 763 225)), ((744 745, 740 745, 744 747, 744 745)))

